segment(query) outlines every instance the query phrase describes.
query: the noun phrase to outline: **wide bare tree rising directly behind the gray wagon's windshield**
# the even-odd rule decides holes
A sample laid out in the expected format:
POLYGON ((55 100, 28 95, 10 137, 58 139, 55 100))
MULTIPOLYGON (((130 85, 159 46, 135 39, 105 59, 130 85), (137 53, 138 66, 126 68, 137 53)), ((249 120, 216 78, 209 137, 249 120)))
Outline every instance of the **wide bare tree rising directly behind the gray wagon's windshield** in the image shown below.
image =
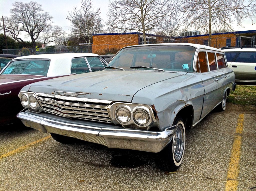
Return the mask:
POLYGON ((175 14, 174 0, 113 0, 109 2, 106 25, 123 32, 140 31, 146 44, 146 32, 156 30, 166 17, 175 14))

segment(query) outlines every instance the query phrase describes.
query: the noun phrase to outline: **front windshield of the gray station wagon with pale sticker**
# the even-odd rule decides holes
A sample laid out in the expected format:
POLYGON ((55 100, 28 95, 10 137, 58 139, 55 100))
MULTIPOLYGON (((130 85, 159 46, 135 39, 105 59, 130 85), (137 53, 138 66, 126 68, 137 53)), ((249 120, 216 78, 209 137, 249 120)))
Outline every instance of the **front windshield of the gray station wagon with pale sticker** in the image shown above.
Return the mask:
MULTIPOLYGON (((108 66, 130 69, 134 66, 154 67, 168 71, 194 72, 193 60, 196 48, 186 45, 142 46, 124 48, 108 66)), ((150 70, 148 68, 134 68, 150 70)))

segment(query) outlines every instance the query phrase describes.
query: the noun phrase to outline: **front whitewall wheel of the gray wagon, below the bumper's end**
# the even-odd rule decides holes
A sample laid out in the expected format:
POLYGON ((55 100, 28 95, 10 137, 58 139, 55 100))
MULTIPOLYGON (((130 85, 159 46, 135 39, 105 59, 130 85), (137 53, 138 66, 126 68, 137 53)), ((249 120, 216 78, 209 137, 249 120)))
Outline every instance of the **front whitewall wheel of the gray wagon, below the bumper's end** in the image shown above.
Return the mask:
POLYGON ((186 142, 183 119, 181 117, 176 118, 174 125, 176 125, 176 133, 173 136, 172 141, 158 153, 156 158, 158 168, 168 172, 176 171, 180 167, 184 156, 186 142))

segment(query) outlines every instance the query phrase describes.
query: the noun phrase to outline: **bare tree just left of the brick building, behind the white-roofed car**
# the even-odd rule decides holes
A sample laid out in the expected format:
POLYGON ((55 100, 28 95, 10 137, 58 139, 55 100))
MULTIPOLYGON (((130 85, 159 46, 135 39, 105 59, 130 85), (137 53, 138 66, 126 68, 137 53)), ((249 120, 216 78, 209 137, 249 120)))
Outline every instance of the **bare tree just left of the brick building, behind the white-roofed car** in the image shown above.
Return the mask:
POLYGON ((74 36, 81 36, 89 45, 92 42, 93 33, 101 33, 104 24, 100 17, 100 8, 93 11, 91 0, 82 0, 81 9, 74 6, 72 11, 68 11, 67 19, 71 22, 69 32, 74 36))

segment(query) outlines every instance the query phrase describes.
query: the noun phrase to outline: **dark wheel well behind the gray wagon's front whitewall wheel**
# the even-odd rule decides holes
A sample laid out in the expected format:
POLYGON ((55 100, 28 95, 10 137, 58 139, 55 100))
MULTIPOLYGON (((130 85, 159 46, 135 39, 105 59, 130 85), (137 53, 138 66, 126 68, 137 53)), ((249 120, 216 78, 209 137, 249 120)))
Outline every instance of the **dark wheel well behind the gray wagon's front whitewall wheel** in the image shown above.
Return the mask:
POLYGON ((186 129, 191 129, 193 125, 193 119, 194 119, 194 108, 192 105, 188 105, 184 108, 182 108, 177 116, 181 117, 185 122, 186 129))

